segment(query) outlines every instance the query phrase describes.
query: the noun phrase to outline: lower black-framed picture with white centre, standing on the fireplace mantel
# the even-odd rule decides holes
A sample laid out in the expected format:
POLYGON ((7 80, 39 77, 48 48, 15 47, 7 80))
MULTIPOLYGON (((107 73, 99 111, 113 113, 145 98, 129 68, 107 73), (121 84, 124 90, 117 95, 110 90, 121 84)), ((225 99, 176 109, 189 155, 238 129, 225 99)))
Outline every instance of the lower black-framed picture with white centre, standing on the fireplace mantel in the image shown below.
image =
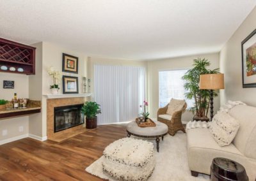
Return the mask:
POLYGON ((63 75, 63 94, 78 94, 78 77, 63 75))

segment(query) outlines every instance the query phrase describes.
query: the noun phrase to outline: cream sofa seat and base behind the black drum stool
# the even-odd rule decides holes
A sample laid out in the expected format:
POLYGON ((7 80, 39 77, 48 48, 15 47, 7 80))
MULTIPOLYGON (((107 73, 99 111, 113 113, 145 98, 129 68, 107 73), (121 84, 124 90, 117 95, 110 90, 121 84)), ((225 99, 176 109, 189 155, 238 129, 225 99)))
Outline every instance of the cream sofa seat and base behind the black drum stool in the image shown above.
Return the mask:
POLYGON ((241 163, 246 171, 246 159, 232 144, 220 147, 211 136, 209 129, 196 128, 187 131, 189 169, 210 175, 211 163, 214 157, 226 157, 241 163))

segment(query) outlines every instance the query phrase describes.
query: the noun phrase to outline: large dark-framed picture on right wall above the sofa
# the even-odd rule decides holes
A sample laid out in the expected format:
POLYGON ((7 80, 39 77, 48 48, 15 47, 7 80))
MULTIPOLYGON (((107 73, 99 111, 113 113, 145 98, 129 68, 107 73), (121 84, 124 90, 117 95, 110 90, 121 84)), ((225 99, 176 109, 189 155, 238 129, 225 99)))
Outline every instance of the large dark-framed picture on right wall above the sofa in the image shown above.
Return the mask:
POLYGON ((242 41, 243 87, 256 87, 256 29, 242 41))

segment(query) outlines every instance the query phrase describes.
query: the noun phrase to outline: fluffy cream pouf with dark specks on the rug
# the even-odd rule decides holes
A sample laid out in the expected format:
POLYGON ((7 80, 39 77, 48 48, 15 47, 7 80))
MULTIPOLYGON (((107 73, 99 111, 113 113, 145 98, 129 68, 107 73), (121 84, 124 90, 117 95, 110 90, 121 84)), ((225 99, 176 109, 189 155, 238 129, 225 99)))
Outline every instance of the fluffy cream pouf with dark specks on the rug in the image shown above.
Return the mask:
POLYGON ((155 166, 154 145, 133 138, 117 140, 103 152, 103 171, 117 180, 147 180, 155 166))

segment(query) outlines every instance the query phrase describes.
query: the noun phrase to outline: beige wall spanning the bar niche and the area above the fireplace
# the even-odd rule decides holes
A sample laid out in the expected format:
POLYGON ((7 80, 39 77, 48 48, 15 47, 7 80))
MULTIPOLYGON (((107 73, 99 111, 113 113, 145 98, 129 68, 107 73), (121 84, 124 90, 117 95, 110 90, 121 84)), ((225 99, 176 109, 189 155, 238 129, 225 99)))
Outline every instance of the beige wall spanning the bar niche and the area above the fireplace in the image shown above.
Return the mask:
MULTIPOLYGON (((62 72, 62 53, 79 57, 79 74, 63 73, 63 75, 77 76, 79 78, 79 93, 83 91, 83 76, 87 76, 86 55, 49 42, 35 43, 31 46, 36 47, 36 75, 0 73, 0 99, 12 99, 13 93, 17 92, 20 98, 42 101, 42 112, 25 117, 0 120, 0 143, 1 140, 28 134, 39 140, 46 138, 47 105, 44 94, 51 94, 49 85, 52 84, 52 78, 47 74, 47 68, 53 66, 62 72), (15 89, 3 89, 3 80, 14 80, 15 89), (24 127, 24 131, 19 132, 20 126, 24 127), (6 136, 2 136, 4 129, 8 131, 6 136)), ((59 85, 62 94, 62 81, 59 85)))

